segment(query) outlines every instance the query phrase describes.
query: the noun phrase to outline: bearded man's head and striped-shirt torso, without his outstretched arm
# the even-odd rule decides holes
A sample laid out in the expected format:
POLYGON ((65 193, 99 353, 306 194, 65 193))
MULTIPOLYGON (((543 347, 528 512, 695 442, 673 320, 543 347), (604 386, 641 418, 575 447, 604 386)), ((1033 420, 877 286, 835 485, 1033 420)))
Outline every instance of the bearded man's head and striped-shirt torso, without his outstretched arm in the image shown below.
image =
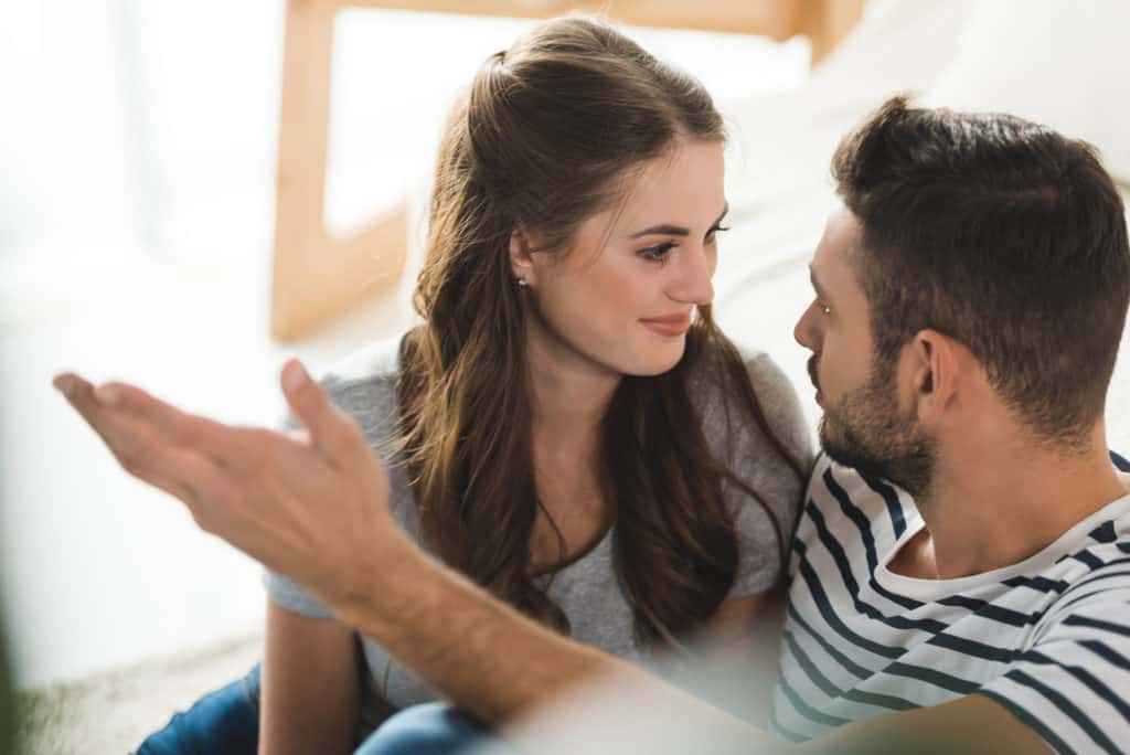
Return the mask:
POLYGON ((1084 145, 902 99, 833 174, 844 207, 796 335, 822 445, 858 471, 812 475, 774 727, 799 740, 948 703, 1119 752, 1130 497, 1103 407, 1130 296, 1120 199, 1084 145))

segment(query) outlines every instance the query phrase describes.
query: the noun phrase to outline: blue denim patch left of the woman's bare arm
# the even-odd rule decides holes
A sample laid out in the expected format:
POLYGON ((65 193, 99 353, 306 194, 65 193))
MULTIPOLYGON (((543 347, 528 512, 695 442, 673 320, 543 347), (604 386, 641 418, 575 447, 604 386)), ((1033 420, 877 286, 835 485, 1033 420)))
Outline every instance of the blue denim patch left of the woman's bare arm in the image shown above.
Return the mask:
POLYGON ((211 692, 164 729, 150 735, 137 755, 255 755, 259 747, 260 665, 244 678, 211 692))

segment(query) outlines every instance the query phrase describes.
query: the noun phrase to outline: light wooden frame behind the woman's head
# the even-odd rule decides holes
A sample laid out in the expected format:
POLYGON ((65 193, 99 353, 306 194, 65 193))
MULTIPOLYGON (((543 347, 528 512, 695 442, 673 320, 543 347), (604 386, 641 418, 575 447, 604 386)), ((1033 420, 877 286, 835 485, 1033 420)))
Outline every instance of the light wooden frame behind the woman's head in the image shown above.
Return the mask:
POLYGON ((286 0, 279 124, 271 336, 302 338, 400 277, 408 245, 403 206, 348 237, 325 228, 333 19, 347 7, 515 18, 571 10, 641 26, 812 38, 818 61, 859 18, 863 0, 286 0))

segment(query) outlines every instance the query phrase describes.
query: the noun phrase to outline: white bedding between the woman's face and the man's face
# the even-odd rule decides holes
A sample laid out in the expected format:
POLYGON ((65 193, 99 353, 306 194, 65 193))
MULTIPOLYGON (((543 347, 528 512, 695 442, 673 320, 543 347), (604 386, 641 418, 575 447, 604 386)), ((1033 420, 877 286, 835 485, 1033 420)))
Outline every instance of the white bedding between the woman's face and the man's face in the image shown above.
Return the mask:
MULTIPOLYGON (((731 337, 776 358, 814 426, 819 413, 805 370, 808 353, 793 341, 792 326, 809 302, 807 264, 834 206, 829 158, 873 107, 899 92, 924 93, 947 72, 976 8, 972 0, 872 0, 803 88, 725 107, 732 231, 722 242, 715 310, 731 337)), ((1123 197, 1130 199, 1130 190, 1123 197)), ((1110 444, 1123 454, 1130 453, 1128 362, 1130 333, 1107 401, 1110 444)))

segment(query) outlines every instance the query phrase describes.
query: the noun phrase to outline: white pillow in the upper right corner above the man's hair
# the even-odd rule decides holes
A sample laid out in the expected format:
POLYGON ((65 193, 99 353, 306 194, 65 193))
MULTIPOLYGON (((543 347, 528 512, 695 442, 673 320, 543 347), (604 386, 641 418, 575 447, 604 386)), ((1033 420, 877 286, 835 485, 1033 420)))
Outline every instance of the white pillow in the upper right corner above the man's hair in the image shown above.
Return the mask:
POLYGON ((981 0, 922 104, 998 111, 1097 147, 1130 185, 1130 2, 981 0))

